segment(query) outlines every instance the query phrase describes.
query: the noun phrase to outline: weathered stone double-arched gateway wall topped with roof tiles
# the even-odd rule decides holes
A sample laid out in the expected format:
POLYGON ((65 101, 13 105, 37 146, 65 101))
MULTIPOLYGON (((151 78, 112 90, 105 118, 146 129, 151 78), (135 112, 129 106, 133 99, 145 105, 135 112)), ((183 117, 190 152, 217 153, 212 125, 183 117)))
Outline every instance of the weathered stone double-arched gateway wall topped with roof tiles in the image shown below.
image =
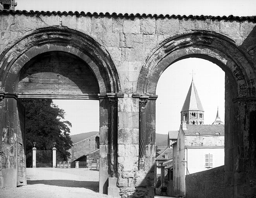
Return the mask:
POLYGON ((225 197, 254 197, 255 26, 232 15, 0 11, 0 185, 26 184, 20 99, 93 99, 100 193, 153 198, 156 85, 197 57, 225 72, 225 197))

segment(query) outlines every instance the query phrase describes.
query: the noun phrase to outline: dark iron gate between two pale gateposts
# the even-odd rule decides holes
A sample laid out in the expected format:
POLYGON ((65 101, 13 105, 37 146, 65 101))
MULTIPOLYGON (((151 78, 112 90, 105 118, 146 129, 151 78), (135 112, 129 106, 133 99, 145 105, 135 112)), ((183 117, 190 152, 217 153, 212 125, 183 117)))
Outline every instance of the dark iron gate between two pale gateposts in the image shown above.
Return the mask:
POLYGON ((36 150, 36 167, 52 167, 52 150, 36 150))

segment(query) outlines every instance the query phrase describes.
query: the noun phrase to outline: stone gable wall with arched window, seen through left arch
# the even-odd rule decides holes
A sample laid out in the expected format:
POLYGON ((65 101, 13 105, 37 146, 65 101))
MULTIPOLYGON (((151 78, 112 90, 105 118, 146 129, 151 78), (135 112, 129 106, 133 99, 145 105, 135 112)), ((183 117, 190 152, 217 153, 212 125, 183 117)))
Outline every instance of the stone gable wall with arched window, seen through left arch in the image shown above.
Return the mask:
POLYGON ((70 152, 70 160, 76 160, 77 158, 81 157, 82 155, 86 155, 98 148, 95 147, 96 141, 95 138, 99 137, 99 134, 93 135, 85 140, 80 142, 74 143, 72 148, 69 149, 70 152))

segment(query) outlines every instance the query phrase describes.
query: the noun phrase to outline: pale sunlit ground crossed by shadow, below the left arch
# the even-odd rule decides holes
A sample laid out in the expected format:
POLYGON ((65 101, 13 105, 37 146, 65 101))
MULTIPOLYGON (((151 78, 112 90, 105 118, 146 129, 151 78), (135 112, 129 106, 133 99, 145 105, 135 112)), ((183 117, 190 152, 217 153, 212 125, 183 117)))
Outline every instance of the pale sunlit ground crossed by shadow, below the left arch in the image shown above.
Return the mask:
POLYGON ((0 198, 113 198, 98 193, 99 171, 27 168, 27 184, 18 188, 0 188, 0 198))

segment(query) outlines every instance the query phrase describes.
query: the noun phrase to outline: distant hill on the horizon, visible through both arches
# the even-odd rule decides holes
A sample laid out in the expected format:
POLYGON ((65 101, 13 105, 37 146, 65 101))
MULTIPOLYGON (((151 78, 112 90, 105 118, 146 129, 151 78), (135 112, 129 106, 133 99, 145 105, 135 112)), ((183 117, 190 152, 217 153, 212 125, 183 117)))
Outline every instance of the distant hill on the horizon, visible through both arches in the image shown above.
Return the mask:
MULTIPOLYGON (((81 140, 84 140, 88 137, 91 137, 92 135, 95 135, 96 133, 99 133, 99 131, 91 131, 88 133, 79 133, 76 135, 70 135, 70 138, 73 143, 79 142, 81 140)), ((156 133, 156 146, 158 146, 159 149, 163 150, 167 147, 167 134, 159 134, 156 133)))

